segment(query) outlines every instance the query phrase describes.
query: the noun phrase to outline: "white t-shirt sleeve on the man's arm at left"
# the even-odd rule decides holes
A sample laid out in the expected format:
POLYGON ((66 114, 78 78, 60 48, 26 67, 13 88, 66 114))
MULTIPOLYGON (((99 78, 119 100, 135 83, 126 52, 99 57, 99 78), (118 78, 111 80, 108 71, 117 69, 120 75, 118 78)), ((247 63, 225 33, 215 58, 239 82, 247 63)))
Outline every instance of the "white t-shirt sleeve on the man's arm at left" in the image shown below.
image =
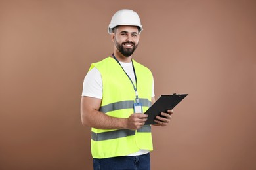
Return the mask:
POLYGON ((83 80, 82 96, 102 99, 102 78, 100 71, 91 69, 83 80))

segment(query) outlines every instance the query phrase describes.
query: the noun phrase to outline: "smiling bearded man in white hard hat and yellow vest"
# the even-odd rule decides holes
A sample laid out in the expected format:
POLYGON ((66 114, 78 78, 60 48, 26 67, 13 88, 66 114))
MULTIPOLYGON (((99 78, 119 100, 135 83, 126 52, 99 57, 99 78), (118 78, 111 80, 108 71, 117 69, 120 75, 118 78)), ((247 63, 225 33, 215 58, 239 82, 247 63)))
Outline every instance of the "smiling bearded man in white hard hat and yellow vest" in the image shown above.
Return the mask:
MULTIPOLYGON (((85 76, 81 120, 92 127, 94 169, 150 169, 151 126, 142 112, 155 101, 154 82, 150 70, 132 57, 141 31, 136 12, 117 11, 108 27, 114 53, 93 63, 85 76)), ((156 125, 166 126, 172 113, 162 112, 156 125)))

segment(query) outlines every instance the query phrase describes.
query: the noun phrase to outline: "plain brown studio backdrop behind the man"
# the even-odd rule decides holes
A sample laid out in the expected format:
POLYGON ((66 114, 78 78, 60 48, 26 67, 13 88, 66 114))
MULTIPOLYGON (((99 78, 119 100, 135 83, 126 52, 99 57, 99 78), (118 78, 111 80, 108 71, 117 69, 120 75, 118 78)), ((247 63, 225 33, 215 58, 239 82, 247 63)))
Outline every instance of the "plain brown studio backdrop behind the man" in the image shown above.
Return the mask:
POLYGON ((256 1, 0 1, 0 169, 92 169, 80 120, 89 65, 112 54, 119 9, 156 97, 189 93, 153 127, 152 169, 256 169, 256 1))

